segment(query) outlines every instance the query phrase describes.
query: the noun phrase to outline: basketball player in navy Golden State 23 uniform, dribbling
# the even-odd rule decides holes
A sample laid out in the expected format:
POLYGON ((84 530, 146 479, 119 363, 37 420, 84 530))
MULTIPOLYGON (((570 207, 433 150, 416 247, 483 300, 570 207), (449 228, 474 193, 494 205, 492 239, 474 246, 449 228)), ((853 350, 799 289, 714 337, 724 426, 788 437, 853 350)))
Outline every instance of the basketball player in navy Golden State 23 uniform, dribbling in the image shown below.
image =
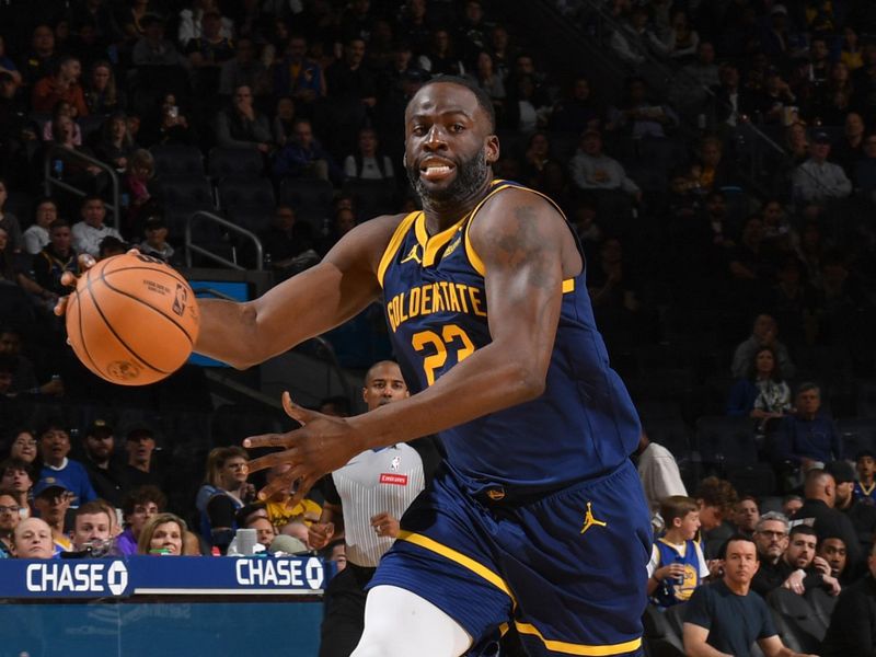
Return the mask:
POLYGON ((489 99, 437 78, 405 114, 424 211, 355 228, 249 303, 200 301, 196 350, 245 368, 382 299, 411 396, 355 417, 304 410, 252 470, 296 497, 367 449, 438 434, 447 459, 380 562, 354 657, 454 657, 514 623, 530 655, 641 652, 650 554, 629 454, 639 425, 610 369, 580 246, 541 194, 494 181, 489 99))

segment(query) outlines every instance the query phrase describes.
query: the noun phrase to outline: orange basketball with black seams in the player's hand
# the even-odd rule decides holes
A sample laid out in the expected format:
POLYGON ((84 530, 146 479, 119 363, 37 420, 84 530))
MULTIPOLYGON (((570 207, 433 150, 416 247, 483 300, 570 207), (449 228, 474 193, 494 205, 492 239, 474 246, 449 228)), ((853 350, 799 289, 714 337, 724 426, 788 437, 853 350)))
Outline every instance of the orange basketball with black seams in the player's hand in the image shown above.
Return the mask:
POLYGON ((67 334, 92 372, 112 383, 146 385, 192 354, 199 313, 188 283, 162 261, 126 253, 80 276, 67 303, 67 334))

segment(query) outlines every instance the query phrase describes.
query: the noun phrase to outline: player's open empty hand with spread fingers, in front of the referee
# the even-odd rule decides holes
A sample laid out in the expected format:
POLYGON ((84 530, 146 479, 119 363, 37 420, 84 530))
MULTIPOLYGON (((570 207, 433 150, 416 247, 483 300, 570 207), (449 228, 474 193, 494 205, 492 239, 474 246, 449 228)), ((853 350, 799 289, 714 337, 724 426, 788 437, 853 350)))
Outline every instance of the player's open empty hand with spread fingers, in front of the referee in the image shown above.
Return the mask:
POLYGON ((243 447, 281 447, 280 451, 250 461, 250 472, 287 463, 289 470, 258 492, 268 499, 278 491, 292 491, 289 504, 298 504, 321 476, 345 465, 361 451, 356 431, 344 417, 323 415, 295 404, 288 392, 283 393, 286 414, 303 425, 288 434, 265 434, 243 441, 243 447))

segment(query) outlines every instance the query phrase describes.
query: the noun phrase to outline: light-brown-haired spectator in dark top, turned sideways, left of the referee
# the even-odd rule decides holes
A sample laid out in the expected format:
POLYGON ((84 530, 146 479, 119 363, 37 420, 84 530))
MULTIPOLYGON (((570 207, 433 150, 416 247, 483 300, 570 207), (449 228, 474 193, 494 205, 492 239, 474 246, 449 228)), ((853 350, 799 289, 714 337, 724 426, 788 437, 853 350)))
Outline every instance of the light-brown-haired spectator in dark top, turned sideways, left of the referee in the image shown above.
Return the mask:
POLYGON ((246 452, 239 447, 219 448, 208 460, 207 484, 211 493, 201 514, 201 534, 224 554, 237 530, 234 514, 255 496, 246 482, 246 452))

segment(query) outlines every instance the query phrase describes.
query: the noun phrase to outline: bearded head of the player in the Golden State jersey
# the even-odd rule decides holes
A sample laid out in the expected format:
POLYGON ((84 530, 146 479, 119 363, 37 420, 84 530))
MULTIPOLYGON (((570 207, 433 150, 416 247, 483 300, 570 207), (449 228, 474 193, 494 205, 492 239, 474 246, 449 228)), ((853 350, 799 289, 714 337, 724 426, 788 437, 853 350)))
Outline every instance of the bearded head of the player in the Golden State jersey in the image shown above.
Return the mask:
POLYGON ((452 83, 424 87, 405 114, 405 168, 424 198, 464 200, 489 183, 499 148, 474 93, 452 83))

